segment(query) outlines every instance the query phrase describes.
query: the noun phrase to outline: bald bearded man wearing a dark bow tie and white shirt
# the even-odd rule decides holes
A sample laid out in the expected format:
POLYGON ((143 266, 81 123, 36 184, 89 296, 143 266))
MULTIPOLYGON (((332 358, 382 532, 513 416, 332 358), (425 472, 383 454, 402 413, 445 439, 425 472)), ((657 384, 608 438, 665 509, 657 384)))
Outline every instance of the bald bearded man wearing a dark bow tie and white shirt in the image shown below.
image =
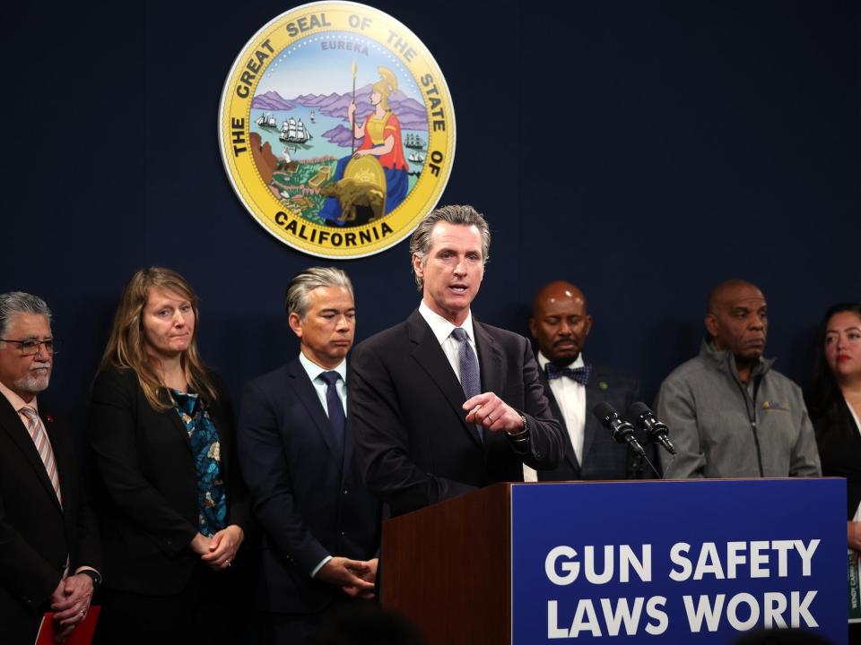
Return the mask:
MULTIPOLYGON (((544 393, 565 435, 565 457, 554 470, 524 468, 526 481, 651 477, 651 469, 627 445, 613 441, 592 409, 605 401, 622 417, 640 400, 639 383, 604 366, 587 364, 583 347, 592 329, 586 296, 570 282, 554 281, 535 296, 529 331, 538 344, 544 393)), ((648 460, 656 464, 654 446, 648 460)))

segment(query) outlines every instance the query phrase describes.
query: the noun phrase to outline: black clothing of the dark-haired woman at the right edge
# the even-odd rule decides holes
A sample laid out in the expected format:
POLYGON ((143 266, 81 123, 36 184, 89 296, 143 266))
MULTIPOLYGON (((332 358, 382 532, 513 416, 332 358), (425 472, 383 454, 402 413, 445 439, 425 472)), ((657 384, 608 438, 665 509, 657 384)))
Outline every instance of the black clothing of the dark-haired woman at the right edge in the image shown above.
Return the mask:
POLYGON ((848 409, 839 400, 822 416, 813 419, 816 445, 825 477, 846 477, 847 519, 861 503, 861 432, 848 409))

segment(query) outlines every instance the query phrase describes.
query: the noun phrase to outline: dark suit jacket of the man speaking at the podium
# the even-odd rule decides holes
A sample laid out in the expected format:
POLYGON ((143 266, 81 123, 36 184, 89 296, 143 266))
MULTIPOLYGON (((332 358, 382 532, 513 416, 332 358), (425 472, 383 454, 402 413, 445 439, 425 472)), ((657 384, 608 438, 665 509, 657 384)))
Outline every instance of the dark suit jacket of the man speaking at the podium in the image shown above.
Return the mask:
POLYGON ((528 341, 473 321, 482 391, 526 415, 525 453, 503 432, 479 439, 464 391, 422 314, 353 350, 350 414, 367 486, 393 515, 499 481, 522 481, 523 464, 552 468, 562 436, 528 341))

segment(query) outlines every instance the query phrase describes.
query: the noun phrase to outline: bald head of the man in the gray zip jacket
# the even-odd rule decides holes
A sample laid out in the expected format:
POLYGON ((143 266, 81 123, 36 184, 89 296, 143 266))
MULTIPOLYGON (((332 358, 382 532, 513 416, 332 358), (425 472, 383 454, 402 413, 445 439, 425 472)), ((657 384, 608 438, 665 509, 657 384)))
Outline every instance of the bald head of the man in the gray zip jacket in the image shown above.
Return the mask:
POLYGON ((736 363, 751 363, 762 356, 768 331, 768 306, 755 285, 726 280, 711 290, 706 330, 715 348, 732 351, 736 363))

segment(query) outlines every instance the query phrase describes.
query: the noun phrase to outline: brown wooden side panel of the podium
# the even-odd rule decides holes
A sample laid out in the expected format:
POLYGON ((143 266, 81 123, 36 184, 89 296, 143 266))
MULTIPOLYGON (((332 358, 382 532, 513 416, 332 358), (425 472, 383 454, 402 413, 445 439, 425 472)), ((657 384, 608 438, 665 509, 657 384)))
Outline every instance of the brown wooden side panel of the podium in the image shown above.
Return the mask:
POLYGON ((382 603, 431 645, 511 641, 511 484, 387 520, 382 603))

